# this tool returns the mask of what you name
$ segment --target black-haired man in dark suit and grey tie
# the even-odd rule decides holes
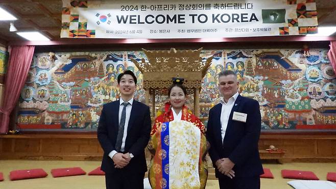
[[[103,106],[97,131],[104,150],[101,170],[106,174],[107,189],[142,189],[150,110],[133,99],[136,77],[131,70],[120,74],[117,81],[121,98]]]

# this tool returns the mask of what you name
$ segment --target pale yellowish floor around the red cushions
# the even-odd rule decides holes
[[[72,176],[53,178],[50,174],[54,168],[81,167],[87,173],[100,166],[99,161],[33,161],[33,160],[0,160],[0,172],[4,173],[5,180],[0,182],[1,189],[103,189],[104,176]],[[313,171],[320,180],[326,180],[327,172],[336,172],[335,163],[284,163],[263,164],[264,168],[271,169],[274,179],[261,179],[262,189],[292,188],[286,182],[292,179],[283,179],[282,169]],[[9,180],[9,172],[19,169],[44,169],[49,176],[39,179]],[[217,180],[208,180],[206,189],[219,188]]]

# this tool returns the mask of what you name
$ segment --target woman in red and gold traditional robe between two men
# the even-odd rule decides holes
[[[206,185],[205,129],[184,104],[187,94],[182,83],[182,78],[173,79],[165,112],[156,117],[151,131],[148,149],[152,154],[149,170],[152,188],[163,185],[167,188],[205,188]]]

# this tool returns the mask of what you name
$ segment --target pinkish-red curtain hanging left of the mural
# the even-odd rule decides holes
[[[35,46],[12,46],[5,79],[4,104],[0,108],[0,134],[8,132],[9,115],[25,85]]]

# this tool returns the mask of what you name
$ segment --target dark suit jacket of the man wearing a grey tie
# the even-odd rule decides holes
[[[108,154],[115,150],[119,129],[119,106],[119,100],[105,104],[99,120],[98,140],[104,150],[101,169],[105,173],[114,173],[117,170],[117,168],[114,168],[114,162]],[[124,170],[133,173],[145,173],[147,171],[145,147],[148,144],[150,133],[151,115],[149,107],[133,100],[124,153],[132,153],[134,157],[123,168]]]

